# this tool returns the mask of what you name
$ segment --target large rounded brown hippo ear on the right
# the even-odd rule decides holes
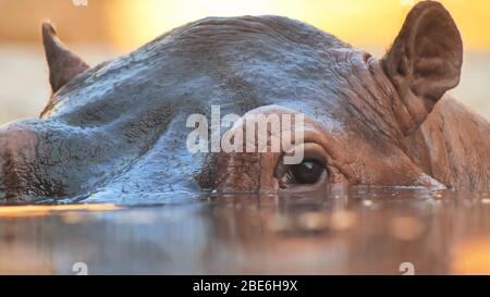
[[[382,63],[401,100],[396,109],[403,111],[395,112],[409,134],[460,83],[463,42],[450,13],[438,2],[415,5]]]

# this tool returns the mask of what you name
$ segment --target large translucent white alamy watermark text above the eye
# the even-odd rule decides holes
[[[281,108],[221,117],[220,107],[212,106],[210,122],[204,114],[187,117],[186,126],[194,131],[187,135],[186,146],[192,153],[278,152],[284,153],[284,164],[299,164],[304,158],[304,119],[302,113]]]

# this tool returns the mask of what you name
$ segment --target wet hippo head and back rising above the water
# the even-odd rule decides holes
[[[490,124],[448,94],[463,42],[438,2],[416,4],[381,59],[271,15],[207,17],[94,67],[49,23],[42,41],[52,95],[39,119],[0,129],[2,201],[490,189]],[[302,114],[302,161],[285,163],[285,148],[189,151],[188,117],[211,107]]]

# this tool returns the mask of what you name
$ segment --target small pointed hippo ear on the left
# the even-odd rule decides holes
[[[87,63],[66,49],[49,23],[42,24],[42,44],[49,65],[49,83],[51,84],[52,92],[56,92],[70,79],[89,69]]]

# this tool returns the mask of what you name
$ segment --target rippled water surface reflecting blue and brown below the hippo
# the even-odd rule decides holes
[[[490,274],[489,218],[488,193],[385,188],[2,207],[0,273]]]

